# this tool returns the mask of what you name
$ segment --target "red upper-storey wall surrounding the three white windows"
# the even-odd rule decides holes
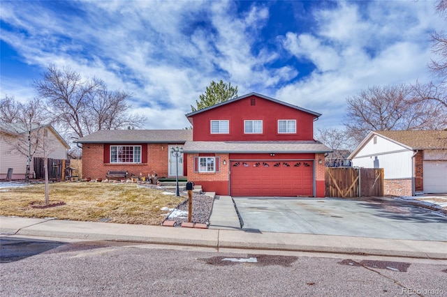
[[[194,141],[288,141],[314,139],[316,116],[256,95],[193,114]],[[212,134],[212,120],[228,120],[228,134]],[[244,134],[244,121],[262,120],[261,134]],[[279,120],[296,120],[296,133],[278,132]]]

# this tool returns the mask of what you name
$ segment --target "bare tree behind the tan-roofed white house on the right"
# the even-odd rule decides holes
[[[360,143],[371,130],[427,130],[443,128],[444,110],[432,100],[415,100],[404,84],[372,86],[346,99],[346,132]]]

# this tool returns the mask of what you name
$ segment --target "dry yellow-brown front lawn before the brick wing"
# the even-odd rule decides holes
[[[0,189],[0,215],[60,220],[109,221],[127,224],[160,224],[168,211],[186,197],[163,195],[163,190],[128,183],[52,183],[50,204],[65,205],[33,208],[33,201],[45,201],[45,185]],[[163,215],[164,214],[164,215]]]

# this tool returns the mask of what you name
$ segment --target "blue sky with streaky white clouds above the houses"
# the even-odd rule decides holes
[[[0,95],[49,63],[133,94],[147,129],[189,126],[212,80],[323,114],[368,86],[430,80],[434,1],[0,1]],[[445,27],[444,27],[445,29]]]

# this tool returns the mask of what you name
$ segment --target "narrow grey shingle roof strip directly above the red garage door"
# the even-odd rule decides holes
[[[321,142],[186,142],[185,153],[328,153]]]

